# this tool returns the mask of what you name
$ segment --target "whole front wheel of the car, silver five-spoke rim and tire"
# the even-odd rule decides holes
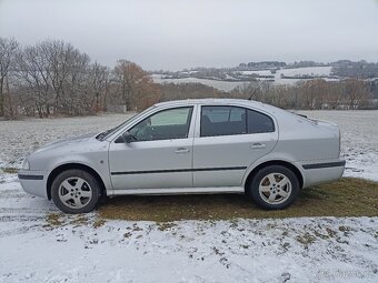
[[[51,184],[53,203],[66,213],[87,213],[96,208],[101,188],[90,173],[72,169],[60,173]]]

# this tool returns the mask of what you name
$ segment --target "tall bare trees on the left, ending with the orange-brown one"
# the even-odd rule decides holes
[[[0,117],[82,115],[108,105],[143,109],[159,88],[138,64],[119,60],[111,70],[61,40],[20,47],[0,38]]]

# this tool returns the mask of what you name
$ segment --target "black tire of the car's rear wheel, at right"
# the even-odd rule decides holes
[[[273,174],[276,180],[286,176],[290,183],[284,185],[284,188],[277,183],[273,186],[270,184],[268,178],[268,175],[271,176],[271,174]],[[262,184],[263,182],[268,182],[261,188],[267,188],[269,191],[260,192],[259,188],[261,182]],[[247,188],[247,194],[257,203],[257,205],[267,210],[281,210],[289,206],[297,199],[298,192],[299,181],[297,175],[290,169],[281,165],[270,165],[260,169]],[[267,200],[271,193],[273,193],[272,198],[277,198],[272,203]],[[281,196],[280,194],[282,193],[286,193],[287,196]]]

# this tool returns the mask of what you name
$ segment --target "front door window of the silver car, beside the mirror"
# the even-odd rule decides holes
[[[189,134],[192,107],[157,112],[129,130],[136,141],[186,139]]]

